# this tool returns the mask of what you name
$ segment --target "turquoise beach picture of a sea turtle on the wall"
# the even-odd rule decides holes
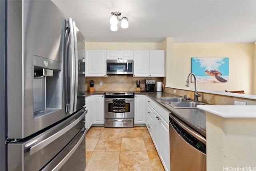
[[[198,83],[227,83],[229,58],[191,58],[191,72]]]

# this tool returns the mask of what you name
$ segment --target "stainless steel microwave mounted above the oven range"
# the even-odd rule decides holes
[[[109,75],[132,75],[133,60],[106,60],[106,70]]]

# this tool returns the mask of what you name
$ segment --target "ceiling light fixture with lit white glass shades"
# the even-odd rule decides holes
[[[111,12],[111,17],[110,17],[110,30],[112,31],[116,31],[117,30],[117,24],[118,21],[122,21],[121,22],[121,27],[122,28],[128,28],[129,24],[128,24],[128,18],[127,17],[123,17],[121,20],[118,18],[118,16],[121,15],[121,12]]]

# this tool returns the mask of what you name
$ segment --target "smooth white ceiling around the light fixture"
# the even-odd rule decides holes
[[[256,0],[52,0],[86,42],[256,42]],[[129,27],[110,30],[111,12]]]

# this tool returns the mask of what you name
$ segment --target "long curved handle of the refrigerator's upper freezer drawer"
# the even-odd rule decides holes
[[[85,117],[85,113],[83,113],[83,115],[81,115],[80,117],[78,117],[78,119],[76,119],[74,122],[70,123],[70,125],[64,127],[64,129],[58,131],[57,133],[53,134],[52,136],[44,139],[43,141],[40,141],[39,143],[37,143],[36,145],[33,145],[32,147],[30,147],[30,155],[33,155],[34,153],[36,153],[37,151],[39,151],[40,149],[46,147],[46,145],[52,143],[54,140],[56,140],[58,137],[62,136],[64,133],[66,133],[67,131],[69,131],[72,127],[74,127],[78,122],[80,122],[82,119],[84,119]]]

